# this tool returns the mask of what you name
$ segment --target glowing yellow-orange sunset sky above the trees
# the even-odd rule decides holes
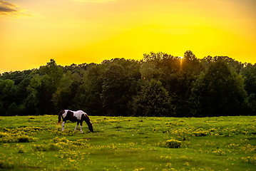
[[[256,1],[0,0],[0,73],[188,50],[256,63]]]

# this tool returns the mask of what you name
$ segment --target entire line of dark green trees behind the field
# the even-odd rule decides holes
[[[45,66],[0,76],[0,115],[204,117],[255,115],[256,64],[227,56],[144,54],[100,64]]]

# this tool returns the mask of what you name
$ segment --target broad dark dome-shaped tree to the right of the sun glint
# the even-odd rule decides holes
[[[240,115],[245,97],[242,76],[219,60],[200,75],[190,100],[194,116]]]

